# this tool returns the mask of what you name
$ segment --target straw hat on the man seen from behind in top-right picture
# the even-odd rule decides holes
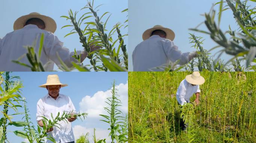
[[[146,40],[148,39],[150,36],[152,36],[152,32],[155,31],[155,30],[162,30],[166,33],[166,39],[170,39],[171,41],[173,41],[173,39],[175,38],[175,34],[174,32],[169,29],[169,28],[164,28],[163,26],[161,25],[155,25],[153,28],[150,28],[150,29],[147,29],[143,35],[142,35],[142,39],[143,40]]]

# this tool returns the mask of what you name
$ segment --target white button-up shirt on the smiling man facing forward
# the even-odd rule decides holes
[[[61,116],[63,112],[71,113],[72,110],[73,113],[76,113],[76,109],[68,96],[59,94],[59,96],[55,100],[49,94],[47,94],[43,98],[39,99],[39,101],[37,102],[36,121],[38,122],[42,120],[43,118],[41,116],[52,120],[51,113],[55,118],[58,115],[58,112],[60,112]],[[60,129],[58,127],[53,127],[54,130],[48,132],[47,134],[49,136],[52,136],[56,140],[56,142],[73,142],[75,139],[71,123],[69,121],[68,123],[66,121],[60,121],[58,123],[61,124],[61,126],[58,125]],[[52,142],[50,140],[47,140],[46,143]]]

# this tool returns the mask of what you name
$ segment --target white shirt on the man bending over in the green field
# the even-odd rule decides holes
[[[176,98],[179,104],[184,105],[190,102],[190,98],[194,93],[201,92],[199,85],[192,86],[186,79],[180,82],[179,88],[177,89]]]

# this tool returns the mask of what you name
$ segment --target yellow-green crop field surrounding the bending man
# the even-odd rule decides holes
[[[255,143],[256,73],[201,72],[200,103],[182,108],[189,123],[182,131],[176,91],[188,74],[192,72],[128,73],[129,142]]]

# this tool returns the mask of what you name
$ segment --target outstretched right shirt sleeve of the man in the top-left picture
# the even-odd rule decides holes
[[[73,64],[72,61],[78,62],[75,58],[72,56],[74,55],[74,52],[71,52],[68,50],[68,48],[63,47],[63,42],[61,42],[57,36],[54,34],[49,34],[45,38],[45,51],[48,58],[50,58],[54,63],[60,67],[61,63],[58,58],[58,55],[60,56],[61,60],[68,66],[72,67]],[[57,55],[58,53],[58,55]],[[80,54],[81,51],[77,51],[77,54]]]

